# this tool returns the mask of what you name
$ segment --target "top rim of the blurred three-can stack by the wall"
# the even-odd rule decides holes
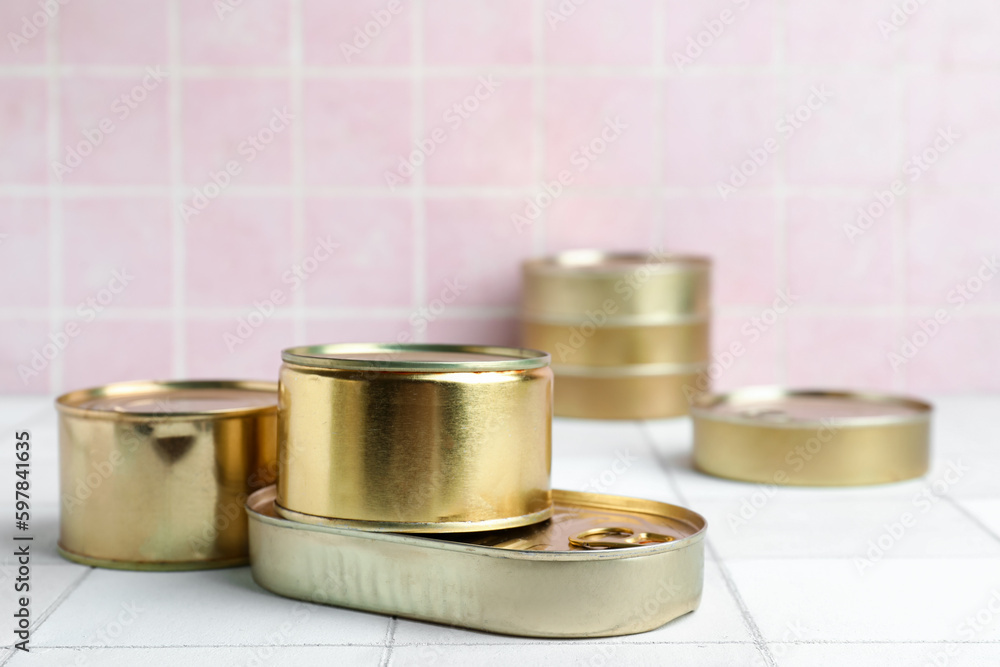
[[[651,271],[668,273],[674,271],[707,271],[712,260],[703,255],[643,253],[637,251],[606,251],[589,248],[564,250],[563,252],[529,259],[524,262],[526,271],[534,273],[563,274],[621,274],[634,271],[635,267],[614,266],[613,261],[636,260],[636,266],[645,265]]]

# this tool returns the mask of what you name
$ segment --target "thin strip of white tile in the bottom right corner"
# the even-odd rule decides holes
[[[778,667],[983,667],[1000,664],[1000,644],[772,644]]]

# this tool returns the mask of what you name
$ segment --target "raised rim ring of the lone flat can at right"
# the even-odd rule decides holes
[[[771,422],[743,417],[740,415],[719,414],[715,408],[722,405],[732,405],[742,400],[778,400],[782,398],[845,398],[864,401],[872,404],[906,407],[913,410],[909,415],[867,415],[861,417],[831,417],[830,419],[797,419],[791,422]],[[814,428],[825,425],[833,420],[838,427],[878,426],[890,424],[914,423],[927,421],[934,407],[917,398],[887,394],[881,392],[851,391],[838,389],[789,389],[780,386],[743,387],[723,394],[701,394],[691,402],[691,415],[715,422],[727,422],[759,428]]]

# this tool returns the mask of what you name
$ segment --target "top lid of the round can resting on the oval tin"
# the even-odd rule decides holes
[[[334,343],[282,350],[283,361],[310,368],[409,372],[518,371],[549,365],[547,352],[484,345]]]

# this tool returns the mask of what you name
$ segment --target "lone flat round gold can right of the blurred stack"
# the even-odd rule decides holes
[[[930,404],[885,394],[752,387],[692,406],[694,463],[710,475],[795,486],[920,477]]]

